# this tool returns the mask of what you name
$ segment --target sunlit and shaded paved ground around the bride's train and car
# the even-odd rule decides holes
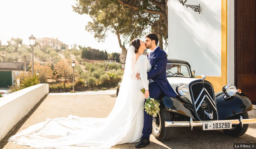
[[[70,114],[80,117],[106,117],[114,106],[115,95],[54,95],[49,94],[20,122],[8,136],[16,134],[30,125],[45,121],[47,118],[67,117]],[[256,142],[256,124],[249,125],[245,135],[230,137],[222,130],[203,131],[202,128],[173,128],[172,138],[168,141],[158,141],[153,135],[150,145],[146,148],[233,148],[233,143]],[[0,148],[31,149],[32,147],[13,144],[4,140]],[[116,145],[112,148],[135,148],[135,143]]]

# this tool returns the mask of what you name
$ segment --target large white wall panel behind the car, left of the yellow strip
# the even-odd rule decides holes
[[[221,76],[221,0],[189,0],[201,12],[168,1],[168,58],[188,61],[196,75]]]

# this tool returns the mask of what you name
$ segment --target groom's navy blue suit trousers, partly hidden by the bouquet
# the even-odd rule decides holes
[[[149,91],[150,98],[154,98],[158,100],[162,93],[162,90],[157,85],[157,83],[156,82],[149,83],[148,88],[149,88],[148,91]],[[145,99],[145,102],[146,100],[147,99]],[[143,134],[142,138],[149,140],[149,137],[152,133],[152,122],[153,122],[153,116],[147,114],[147,112],[144,110],[144,126],[142,130],[142,134]]]

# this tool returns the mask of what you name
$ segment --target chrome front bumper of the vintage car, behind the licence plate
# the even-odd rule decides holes
[[[240,119],[230,119],[230,120],[219,120],[219,121],[193,121],[190,118],[190,121],[180,121],[180,122],[165,122],[165,127],[190,127],[193,130],[193,127],[203,126],[203,122],[232,122],[232,125],[238,125],[243,128],[243,124],[256,124],[256,118],[243,119],[240,116]]]

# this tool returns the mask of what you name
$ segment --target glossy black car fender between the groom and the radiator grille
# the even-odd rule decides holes
[[[172,98],[165,96],[162,98],[160,106],[166,111],[179,113],[196,119],[193,106],[191,102],[185,97],[177,96]]]

